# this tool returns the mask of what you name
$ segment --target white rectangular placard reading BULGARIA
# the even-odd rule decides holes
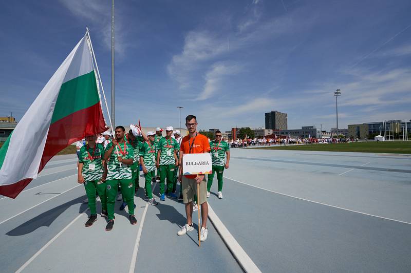
[[[184,154],[183,175],[211,174],[211,154]]]

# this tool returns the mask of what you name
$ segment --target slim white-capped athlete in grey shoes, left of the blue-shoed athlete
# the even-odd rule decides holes
[[[154,145],[154,135],[154,132],[148,132],[148,140],[145,141],[140,148],[140,164],[145,178],[145,195],[148,198],[148,203],[151,205],[157,205],[156,200],[153,198],[153,191],[151,188],[152,179],[155,176],[156,169],[156,146]]]

